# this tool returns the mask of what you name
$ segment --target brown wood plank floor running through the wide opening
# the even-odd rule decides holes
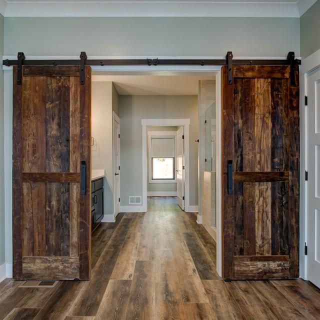
[[[224,282],[194,213],[172,197],[151,197],[148,208],[94,231],[91,281],[2,281],[0,320],[320,319],[320,290],[309,282]]]

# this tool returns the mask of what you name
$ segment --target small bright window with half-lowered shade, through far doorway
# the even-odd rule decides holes
[[[149,183],[175,182],[175,132],[157,132],[149,134]]]

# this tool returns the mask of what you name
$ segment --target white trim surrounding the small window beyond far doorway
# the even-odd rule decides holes
[[[147,131],[148,140],[147,140],[147,165],[148,165],[148,183],[176,183],[176,174],[175,174],[175,161],[176,161],[176,131]],[[151,161],[151,137],[157,138],[168,138],[172,137],[174,139],[174,159],[173,159],[173,175],[174,179],[152,179],[152,161]]]

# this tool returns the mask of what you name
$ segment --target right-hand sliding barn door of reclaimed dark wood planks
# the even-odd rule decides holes
[[[298,66],[222,68],[223,277],[298,276]]]

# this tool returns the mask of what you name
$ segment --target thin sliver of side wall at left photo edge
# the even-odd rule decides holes
[[[3,55],[3,16],[0,14],[0,59]],[[5,261],[4,242],[4,101],[3,72],[0,72],[0,265]]]

